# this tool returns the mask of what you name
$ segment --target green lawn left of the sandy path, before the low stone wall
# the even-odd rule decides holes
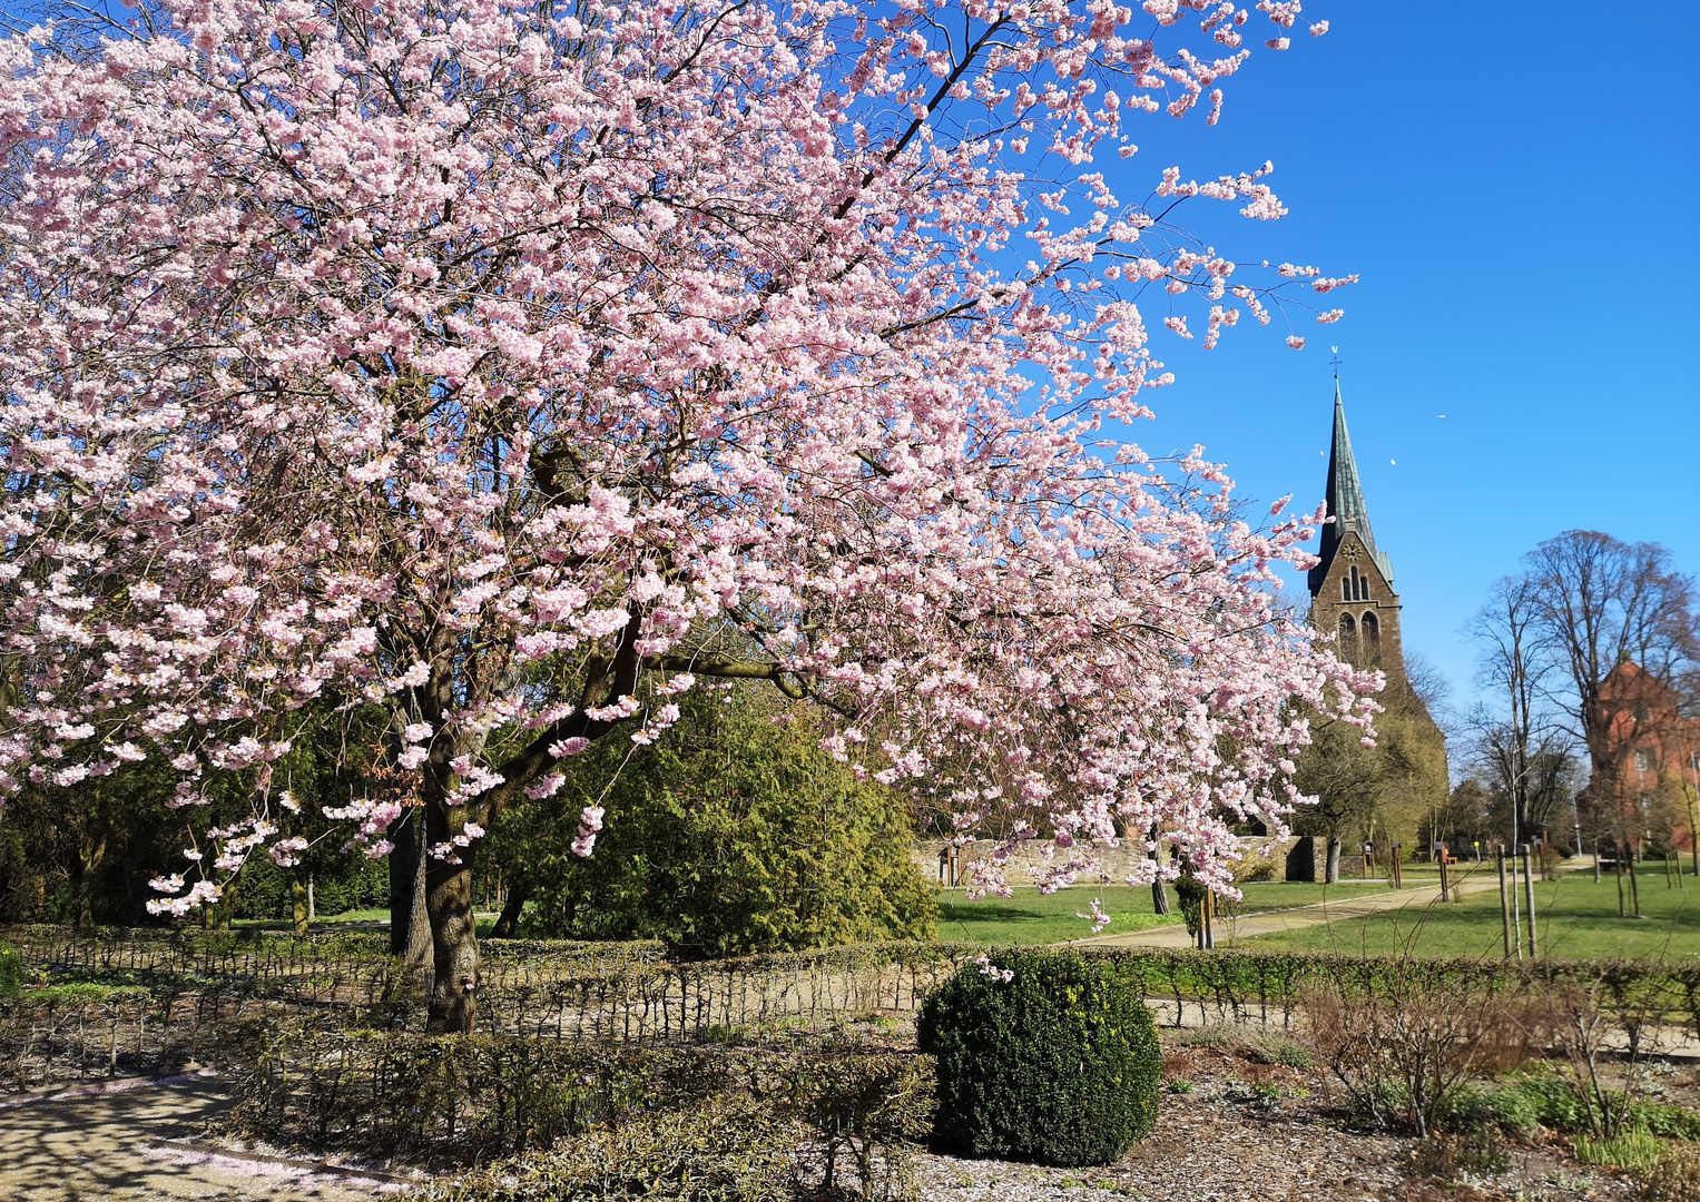
[[[1236,903],[1239,913],[1290,910],[1318,901],[1358,898],[1367,893],[1386,893],[1387,884],[1377,881],[1348,881],[1333,886],[1287,884],[1265,881],[1244,886],[1244,901]],[[1044,896],[1034,886],[1020,886],[1013,898],[981,898],[966,901],[960,889],[952,889],[938,899],[938,938],[969,944],[1061,944],[1091,935],[1091,925],[1076,918],[1088,913],[1093,898],[1103,899],[1103,908],[1114,920],[1105,935],[1124,935],[1149,927],[1166,927],[1180,921],[1180,908],[1173,916],[1151,913],[1151,889],[1117,886],[1074,886]],[[1175,894],[1170,891],[1170,904]]]

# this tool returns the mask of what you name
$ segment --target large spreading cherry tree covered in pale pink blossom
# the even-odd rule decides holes
[[[1352,277],[1171,224],[1278,219],[1268,163],[1151,207],[1095,163],[1202,129],[1243,14],[1018,9],[162,0],[0,43],[0,787],[156,753],[194,816],[252,782],[223,867],[160,882],[187,913],[291,855],[309,707],[388,711],[437,978],[476,979],[457,850],[765,680],[984,838],[979,887],[1156,831],[1229,889],[1231,826],[1300,801],[1294,702],[1367,728],[1375,680],[1275,595],[1319,515],[1255,529],[1219,464],[1112,435],[1173,379],[1151,323],[1216,345]],[[393,804],[326,813],[389,847]]]

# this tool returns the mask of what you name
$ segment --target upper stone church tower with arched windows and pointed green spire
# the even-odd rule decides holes
[[[1328,515],[1321,563],[1311,568],[1311,626],[1340,636],[1341,658],[1382,668],[1389,682],[1404,677],[1399,643],[1399,593],[1392,561],[1375,546],[1358,464],[1346,434],[1346,406],[1334,376],[1334,440],[1328,452]]]

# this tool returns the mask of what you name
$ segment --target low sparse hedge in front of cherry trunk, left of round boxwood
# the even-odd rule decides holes
[[[864,1173],[869,1141],[925,1134],[932,1091],[932,1061],[913,1052],[632,1047],[287,1023],[257,1042],[228,1122],[321,1153],[466,1165],[741,1097],[819,1132],[831,1176],[840,1163]]]

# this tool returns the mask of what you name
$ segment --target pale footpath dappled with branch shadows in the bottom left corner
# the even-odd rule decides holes
[[[0,1098],[3,1202],[374,1202],[398,1187],[311,1166],[162,1148],[231,1105],[207,1078],[112,1081]]]

